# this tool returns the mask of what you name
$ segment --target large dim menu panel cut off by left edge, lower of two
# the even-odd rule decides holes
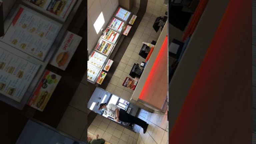
[[[0,93],[20,102],[39,67],[0,48]]]

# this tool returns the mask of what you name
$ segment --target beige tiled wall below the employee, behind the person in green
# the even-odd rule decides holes
[[[92,139],[96,138],[96,134],[99,134],[99,138],[105,139],[105,144],[136,144],[139,138],[139,133],[124,128],[101,115],[97,115],[87,129],[87,135]],[[82,140],[86,141],[86,137],[82,137]]]

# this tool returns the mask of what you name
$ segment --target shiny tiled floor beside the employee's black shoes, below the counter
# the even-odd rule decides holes
[[[146,121],[149,126],[145,134],[142,128],[135,126],[140,133],[137,144],[167,144],[167,113],[148,113],[141,109],[138,117]]]

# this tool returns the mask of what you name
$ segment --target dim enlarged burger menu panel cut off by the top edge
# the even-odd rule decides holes
[[[27,0],[57,16],[66,18],[75,0]]]

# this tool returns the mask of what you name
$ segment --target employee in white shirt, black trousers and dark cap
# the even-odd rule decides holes
[[[120,109],[114,104],[108,104],[107,103],[102,103],[99,106],[99,110],[103,110],[106,112],[106,114],[112,118],[115,119],[116,122],[123,121],[127,123],[134,123],[136,125],[139,125],[140,127],[143,128],[143,133],[146,132],[148,128],[147,122],[141,120],[140,118],[137,118],[135,116],[132,116],[128,114],[125,110]]]

